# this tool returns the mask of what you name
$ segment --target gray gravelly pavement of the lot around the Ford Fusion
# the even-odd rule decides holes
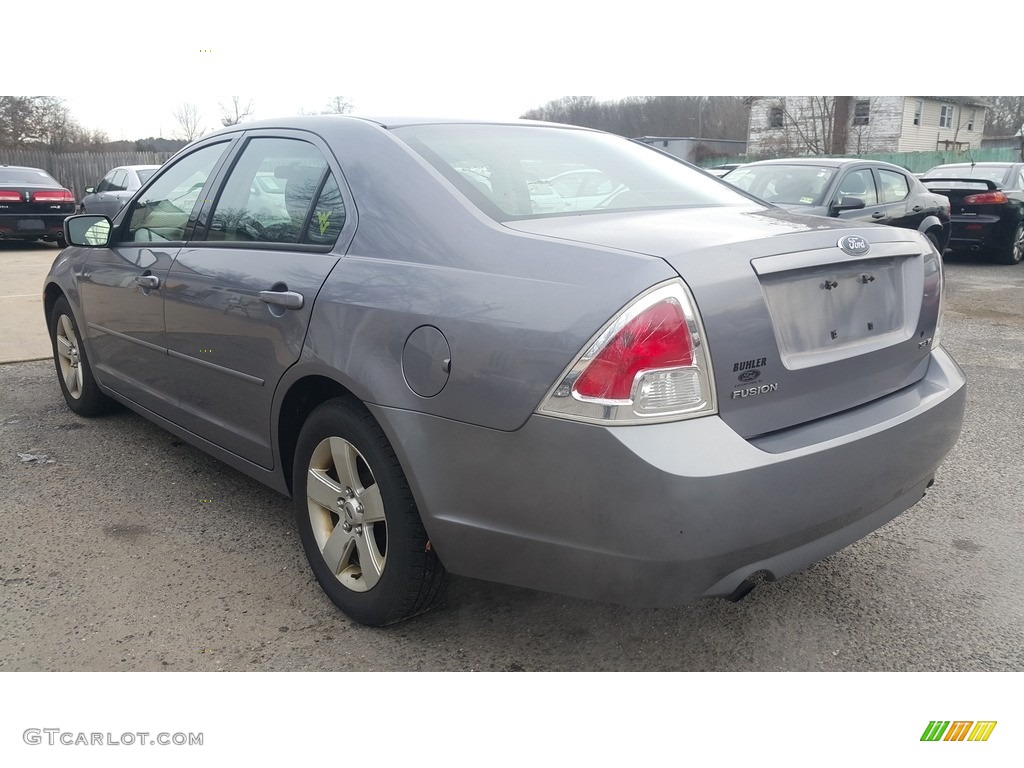
[[[55,253],[27,257],[40,280]],[[1024,266],[947,259],[943,343],[969,377],[957,447],[824,562],[659,610],[456,579],[386,630],[324,596],[287,500],[129,412],[75,416],[48,359],[0,365],[0,671],[1024,671]]]

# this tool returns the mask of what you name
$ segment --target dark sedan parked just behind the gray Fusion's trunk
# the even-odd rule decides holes
[[[769,203],[815,216],[890,224],[928,236],[942,253],[949,201],[891,163],[842,158],[765,160],[723,177]]]

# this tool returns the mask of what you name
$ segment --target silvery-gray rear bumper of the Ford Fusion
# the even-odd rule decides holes
[[[925,379],[755,442],[721,419],[500,432],[376,409],[455,573],[627,605],[728,595],[861,539],[923,496],[959,434],[965,380]]]

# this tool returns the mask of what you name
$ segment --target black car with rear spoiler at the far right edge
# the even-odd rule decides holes
[[[1001,264],[1024,259],[1024,163],[937,165],[921,180],[952,206],[949,248]]]

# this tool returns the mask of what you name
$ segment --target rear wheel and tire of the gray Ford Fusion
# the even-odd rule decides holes
[[[302,548],[346,615],[382,627],[440,601],[447,571],[391,444],[361,403],[337,398],[309,415],[292,476]]]

